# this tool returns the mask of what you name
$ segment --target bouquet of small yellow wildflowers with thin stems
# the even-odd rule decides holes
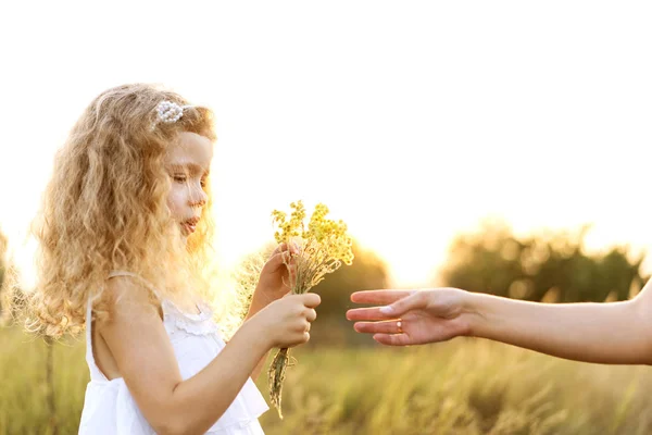
[[[304,294],[324,279],[327,273],[335,272],[342,263],[353,262],[352,239],[347,234],[347,224],[326,219],[328,208],[323,203],[315,206],[308,226],[304,223],[303,202],[292,202],[290,208],[292,212],[289,219],[283,211],[272,212],[276,226],[274,237],[279,244],[294,244],[299,248],[299,252],[292,257],[296,276],[291,293]],[[283,348],[274,357],[268,371],[269,399],[281,419],[280,394],[288,362],[289,349]]]

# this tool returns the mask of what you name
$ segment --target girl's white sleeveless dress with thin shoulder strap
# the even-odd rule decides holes
[[[113,276],[138,278],[158,295],[156,290],[138,275],[116,271],[111,273],[110,277]],[[200,307],[200,314],[185,313],[165,299],[162,300],[161,307],[163,325],[172,341],[185,381],[206,366],[224,348],[225,343],[212,320],[212,312],[208,306]],[[91,310],[92,301],[89,300],[86,314],[86,362],[90,370],[90,382],[86,387],[79,434],[155,434],[138,409],[124,380],[118,377],[109,381],[98,369],[92,356]],[[249,378],[226,412],[206,433],[263,434],[258,418],[268,409],[255,384]]]

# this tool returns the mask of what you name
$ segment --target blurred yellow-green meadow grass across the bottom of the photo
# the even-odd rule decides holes
[[[75,434],[88,369],[84,344],[54,345],[50,420],[47,346],[0,330],[0,434]],[[652,369],[564,361],[456,339],[390,349],[304,347],[288,369],[275,434],[649,434]],[[265,396],[265,376],[258,380]]]

